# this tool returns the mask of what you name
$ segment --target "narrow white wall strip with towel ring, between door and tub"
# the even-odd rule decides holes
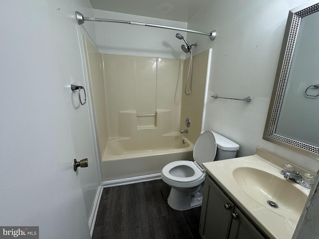
[[[87,168],[78,169],[76,174],[81,182],[87,221],[92,232],[95,222],[93,209],[101,182],[94,145],[94,129],[90,121],[89,89],[85,83],[85,72],[83,70],[85,62],[82,62],[84,55],[81,54],[83,52],[82,35],[78,33],[79,25],[74,19],[75,9],[82,9],[80,6],[73,5],[80,4],[79,0],[73,1],[74,3],[65,0],[50,0],[49,11],[52,23],[51,34],[56,48],[54,55],[59,73],[57,78],[64,84],[64,105],[67,108],[70,122],[75,158],[78,161],[87,158],[89,162]],[[88,27],[94,28],[94,25],[91,24]],[[83,26],[81,26],[81,29],[83,29]],[[88,34],[89,31],[84,30],[84,32]],[[79,91],[72,92],[70,84],[84,87],[80,90],[82,104],[85,103],[84,90],[86,90],[87,100],[84,105],[80,104]]]

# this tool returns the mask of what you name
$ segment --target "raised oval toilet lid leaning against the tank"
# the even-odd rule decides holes
[[[212,131],[204,131],[201,135],[199,135],[193,151],[194,161],[198,163],[198,165],[202,165],[202,163],[214,161],[216,156],[216,140]]]

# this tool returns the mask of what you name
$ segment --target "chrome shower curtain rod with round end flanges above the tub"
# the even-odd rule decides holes
[[[85,16],[83,16],[82,13],[80,13],[78,11],[75,11],[75,18],[76,18],[76,21],[78,22],[79,25],[83,24],[84,21],[106,21],[106,22],[127,23],[127,24],[139,25],[139,26],[151,26],[151,27],[165,28],[165,29],[171,29],[171,30],[177,30],[177,31],[191,32],[191,33],[195,33],[195,34],[206,35],[212,41],[217,36],[216,30],[213,30],[213,31],[207,33],[207,32],[202,32],[202,31],[194,31],[194,30],[189,30],[189,29],[185,29],[185,28],[157,25],[157,24],[151,24],[151,23],[145,23],[145,22],[123,21],[123,20],[104,19],[104,18],[96,18],[96,17],[85,17]]]

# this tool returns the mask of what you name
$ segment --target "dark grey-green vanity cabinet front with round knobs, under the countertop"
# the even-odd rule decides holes
[[[207,174],[199,233],[202,239],[267,239]]]

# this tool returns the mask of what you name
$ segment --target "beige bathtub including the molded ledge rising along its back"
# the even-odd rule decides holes
[[[194,145],[179,132],[171,132],[170,111],[147,116],[124,111],[118,119],[119,136],[109,137],[100,153],[107,181],[159,174],[167,163],[192,159]]]

